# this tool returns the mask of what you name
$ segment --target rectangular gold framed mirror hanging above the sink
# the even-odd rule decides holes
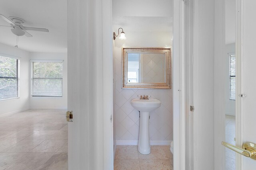
[[[171,88],[171,49],[122,48],[122,88]]]

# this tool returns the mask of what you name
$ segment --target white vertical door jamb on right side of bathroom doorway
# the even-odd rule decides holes
[[[174,0],[173,26],[173,139],[174,170],[186,169],[184,0]],[[175,63],[175,64],[174,64]]]

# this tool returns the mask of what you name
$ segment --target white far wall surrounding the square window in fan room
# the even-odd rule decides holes
[[[31,60],[63,60],[63,96],[39,97],[30,95],[31,109],[66,109],[67,108],[67,53],[30,53]],[[29,66],[31,68],[31,66]],[[31,86],[31,72],[29,72]],[[31,94],[31,92],[29,92]]]

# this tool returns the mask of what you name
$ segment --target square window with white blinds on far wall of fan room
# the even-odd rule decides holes
[[[62,61],[32,61],[32,96],[62,97]]]

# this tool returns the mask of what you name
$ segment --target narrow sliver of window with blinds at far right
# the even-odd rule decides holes
[[[229,99],[236,100],[236,55],[229,56]]]

